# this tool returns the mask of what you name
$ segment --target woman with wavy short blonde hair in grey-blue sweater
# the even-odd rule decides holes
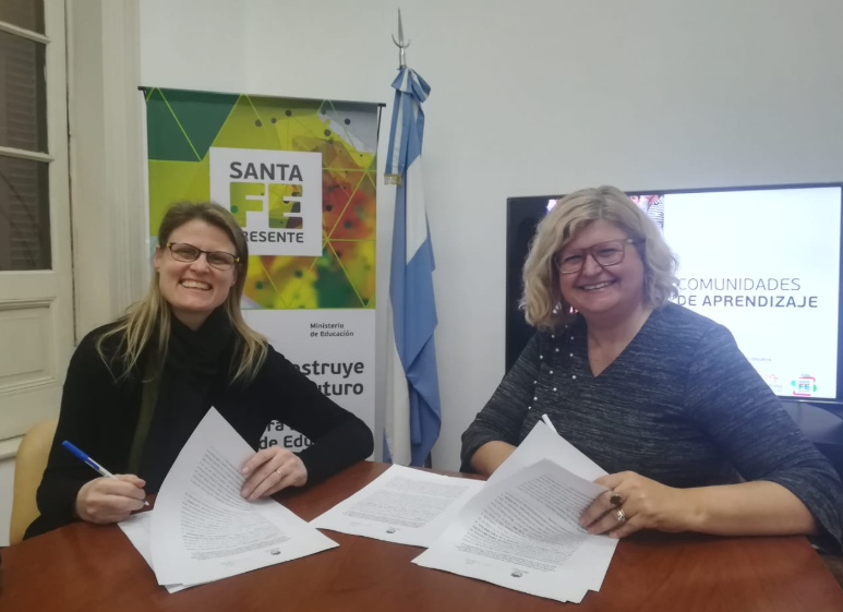
[[[561,200],[523,268],[537,334],[462,434],[462,469],[492,473],[546,413],[610,472],[580,519],[592,533],[819,533],[839,547],[840,478],[728,329],[670,302],[675,269],[622,191]]]

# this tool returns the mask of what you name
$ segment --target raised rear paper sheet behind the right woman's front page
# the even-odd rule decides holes
[[[539,421],[523,439],[523,442],[518,445],[515,453],[501,464],[486,482],[489,484],[499,482],[542,459],[550,459],[585,480],[594,480],[606,475],[603,468],[589,459],[570,442]]]

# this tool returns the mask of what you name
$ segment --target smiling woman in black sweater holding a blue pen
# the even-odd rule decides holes
[[[278,446],[242,466],[241,495],[255,500],[317,482],[372,453],[372,432],[276,352],[243,321],[249,245],[214,203],[183,202],[164,216],[146,296],[94,329],[71,359],[56,439],[38,489],[40,516],[26,537],[75,519],[116,523],[157,492],[213,406],[257,449],[273,420],[313,445]],[[61,447],[68,440],[112,472]]]

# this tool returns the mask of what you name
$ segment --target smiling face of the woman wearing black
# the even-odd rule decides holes
[[[177,227],[167,241],[186,242],[203,251],[237,254],[225,231],[200,219]],[[172,308],[172,314],[192,329],[198,329],[208,315],[225,303],[237,280],[236,265],[229,269],[212,267],[205,254],[195,262],[180,262],[173,259],[169,249],[157,247],[154,263],[161,296]]]

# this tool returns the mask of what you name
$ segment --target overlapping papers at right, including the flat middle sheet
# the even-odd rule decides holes
[[[605,473],[540,421],[486,482],[393,466],[311,525],[425,547],[417,565],[579,603],[617,547],[579,526]]]

